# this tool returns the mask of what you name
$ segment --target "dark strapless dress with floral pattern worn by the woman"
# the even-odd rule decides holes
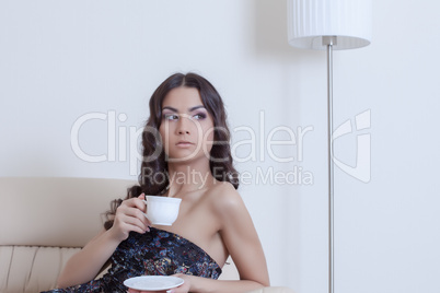
[[[101,279],[46,293],[127,292],[123,282],[138,276],[186,273],[218,279],[221,273],[219,265],[204,249],[177,234],[154,227],[144,234],[131,232],[116,248],[111,263]]]

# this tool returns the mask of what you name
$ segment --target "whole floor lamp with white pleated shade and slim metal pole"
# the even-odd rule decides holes
[[[333,50],[371,42],[371,0],[288,0],[289,44],[327,51],[328,292],[334,293]]]

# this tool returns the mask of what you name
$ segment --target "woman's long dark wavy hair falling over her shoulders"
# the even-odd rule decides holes
[[[166,191],[170,185],[167,162],[159,128],[162,122],[162,103],[171,90],[180,86],[197,89],[201,103],[213,119],[213,145],[209,160],[212,176],[217,180],[231,183],[235,189],[239,188],[239,173],[232,162],[227,113],[220,94],[208,80],[196,73],[175,73],[162,82],[150,98],[150,117],[142,132],[143,160],[138,179],[139,185],[130,187],[125,199],[139,197],[142,192],[160,196]],[[108,230],[113,225],[113,221],[108,216],[115,215],[116,209],[121,202],[121,199],[112,201],[112,208],[106,213],[105,228]]]

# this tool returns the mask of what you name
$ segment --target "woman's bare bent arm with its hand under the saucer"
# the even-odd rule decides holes
[[[240,273],[240,280],[212,280],[181,276],[186,285],[172,292],[247,292],[268,286],[266,258],[251,215],[239,192],[230,185],[212,195],[220,234]],[[185,288],[186,286],[186,288]]]

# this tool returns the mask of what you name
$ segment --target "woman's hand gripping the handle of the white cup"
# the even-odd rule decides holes
[[[116,209],[113,226],[109,228],[114,238],[123,242],[128,238],[131,231],[137,233],[150,231],[151,223],[143,215],[147,208],[144,198],[146,196],[142,194],[138,198],[126,199]]]

